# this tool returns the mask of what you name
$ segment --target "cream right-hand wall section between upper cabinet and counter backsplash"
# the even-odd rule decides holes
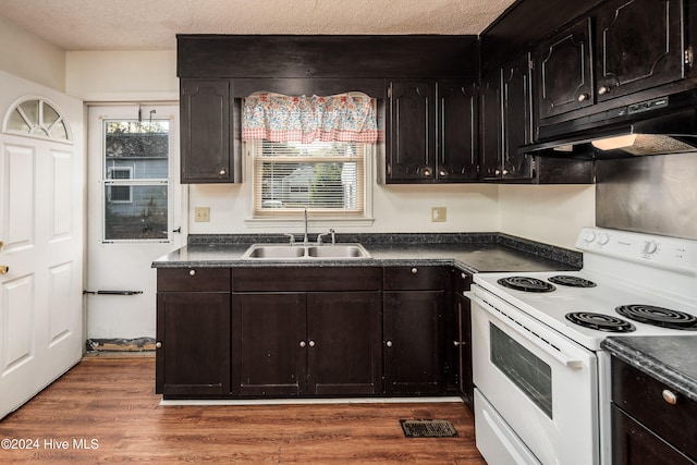
[[[595,224],[595,185],[499,186],[501,232],[574,249],[580,228]]]

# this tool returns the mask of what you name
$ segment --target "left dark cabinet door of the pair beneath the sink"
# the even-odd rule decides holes
[[[232,296],[235,395],[301,395],[306,389],[305,293]]]

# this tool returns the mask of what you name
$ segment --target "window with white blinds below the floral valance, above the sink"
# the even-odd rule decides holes
[[[254,217],[365,215],[365,166],[374,144],[247,140],[254,164]]]

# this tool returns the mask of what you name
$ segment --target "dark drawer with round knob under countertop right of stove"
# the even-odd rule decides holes
[[[675,404],[663,399],[664,390],[676,394]],[[675,449],[697,460],[697,402],[614,357],[612,401]]]

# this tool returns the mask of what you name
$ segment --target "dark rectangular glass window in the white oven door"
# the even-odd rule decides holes
[[[551,419],[551,367],[493,323],[489,326],[491,363]]]

